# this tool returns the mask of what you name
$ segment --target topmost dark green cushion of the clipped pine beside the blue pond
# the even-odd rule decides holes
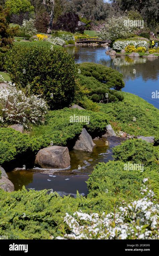
[[[112,68],[90,62],[84,62],[77,66],[83,76],[94,77],[99,82],[104,83],[108,88],[121,90],[124,87],[122,74]]]

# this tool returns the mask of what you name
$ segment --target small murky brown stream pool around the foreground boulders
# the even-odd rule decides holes
[[[105,141],[108,140],[108,146]],[[93,167],[99,162],[112,160],[112,148],[119,145],[122,138],[110,137],[94,140],[96,146],[93,152],[71,150],[71,168],[61,171],[46,169],[30,169],[8,172],[8,177],[13,182],[15,190],[19,190],[24,185],[27,189],[53,189],[53,191],[64,191],[76,194],[85,193],[87,195],[86,181],[91,174]]]

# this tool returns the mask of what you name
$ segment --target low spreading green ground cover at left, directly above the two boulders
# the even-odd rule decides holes
[[[98,107],[98,106],[97,106]],[[72,123],[71,116],[89,116],[90,123]],[[33,126],[29,134],[21,134],[11,128],[0,128],[0,165],[9,162],[20,153],[30,151],[32,156],[38,150],[53,145],[70,146],[71,141],[85,127],[90,134],[105,131],[107,116],[101,112],[64,108],[50,111],[46,116],[46,124]]]

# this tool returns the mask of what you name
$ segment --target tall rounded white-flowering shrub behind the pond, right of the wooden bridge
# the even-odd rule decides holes
[[[118,38],[128,38],[133,35],[134,27],[125,27],[124,21],[127,17],[112,16],[109,18],[99,32],[99,37],[103,40],[116,40]]]

